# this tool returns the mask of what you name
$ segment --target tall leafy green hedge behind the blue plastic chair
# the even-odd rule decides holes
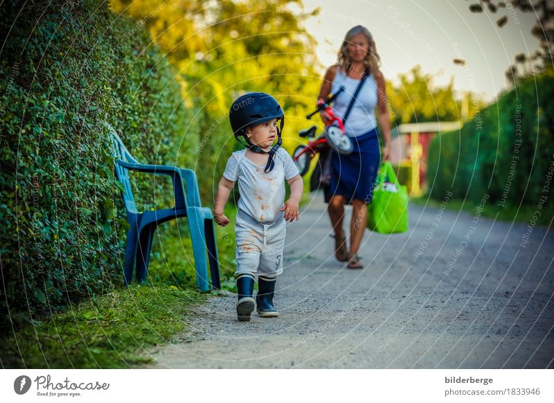
[[[28,321],[121,282],[126,220],[102,123],[147,163],[193,165],[199,136],[175,71],[104,1],[8,1],[0,26],[0,303]],[[136,182],[146,208],[170,203],[164,185]]]

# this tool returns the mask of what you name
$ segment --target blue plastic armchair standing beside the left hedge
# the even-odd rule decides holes
[[[125,248],[125,285],[132,282],[133,269],[136,263],[136,280],[141,283],[148,274],[148,260],[152,239],[156,227],[166,221],[179,217],[188,217],[190,238],[193,242],[195,258],[196,283],[202,292],[209,291],[206,248],[210,264],[212,287],[220,289],[220,268],[217,259],[213,215],[209,208],[202,207],[198,183],[193,170],[179,169],[166,165],[147,165],[139,163],[127,150],[116,131],[107,124],[111,139],[114,142],[115,168],[118,180],[123,184],[123,202],[127,210],[127,247]],[[163,174],[171,177],[175,192],[175,207],[140,213],[136,209],[129,170],[151,174]],[[186,190],[185,186],[186,185]]]

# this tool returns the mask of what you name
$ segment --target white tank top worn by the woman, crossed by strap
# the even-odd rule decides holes
[[[337,99],[332,103],[334,114],[342,118],[346,113],[346,108],[350,105],[350,100],[356,92],[359,80],[350,78],[345,72],[337,68],[337,74],[334,76],[334,80],[331,85],[331,93],[339,91],[340,87],[344,87]],[[370,130],[377,127],[377,120],[375,119],[375,107],[377,106],[377,82],[373,74],[370,74],[364,86],[361,87],[357,100],[352,105],[352,110],[344,129],[346,134],[351,137],[361,136],[366,134]]]

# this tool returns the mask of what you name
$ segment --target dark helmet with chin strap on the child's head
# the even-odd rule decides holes
[[[264,151],[257,145],[250,143],[247,137],[247,129],[271,119],[280,120],[280,125],[277,129],[278,141],[276,145],[271,147],[271,150]],[[245,93],[243,96],[237,98],[231,105],[231,109],[229,110],[229,121],[231,122],[233,134],[239,143],[244,145],[244,147],[248,147],[253,152],[269,154],[265,172],[271,171],[274,167],[273,156],[280,145],[283,144],[281,132],[283,132],[283,127],[285,126],[285,113],[283,109],[281,109],[279,102],[270,96],[269,93]],[[244,138],[246,144],[240,141],[240,137]]]

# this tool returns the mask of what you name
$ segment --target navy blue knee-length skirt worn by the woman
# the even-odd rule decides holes
[[[342,195],[350,204],[352,199],[369,204],[381,163],[377,128],[357,137],[350,137],[354,150],[348,155],[332,153],[330,195]]]

